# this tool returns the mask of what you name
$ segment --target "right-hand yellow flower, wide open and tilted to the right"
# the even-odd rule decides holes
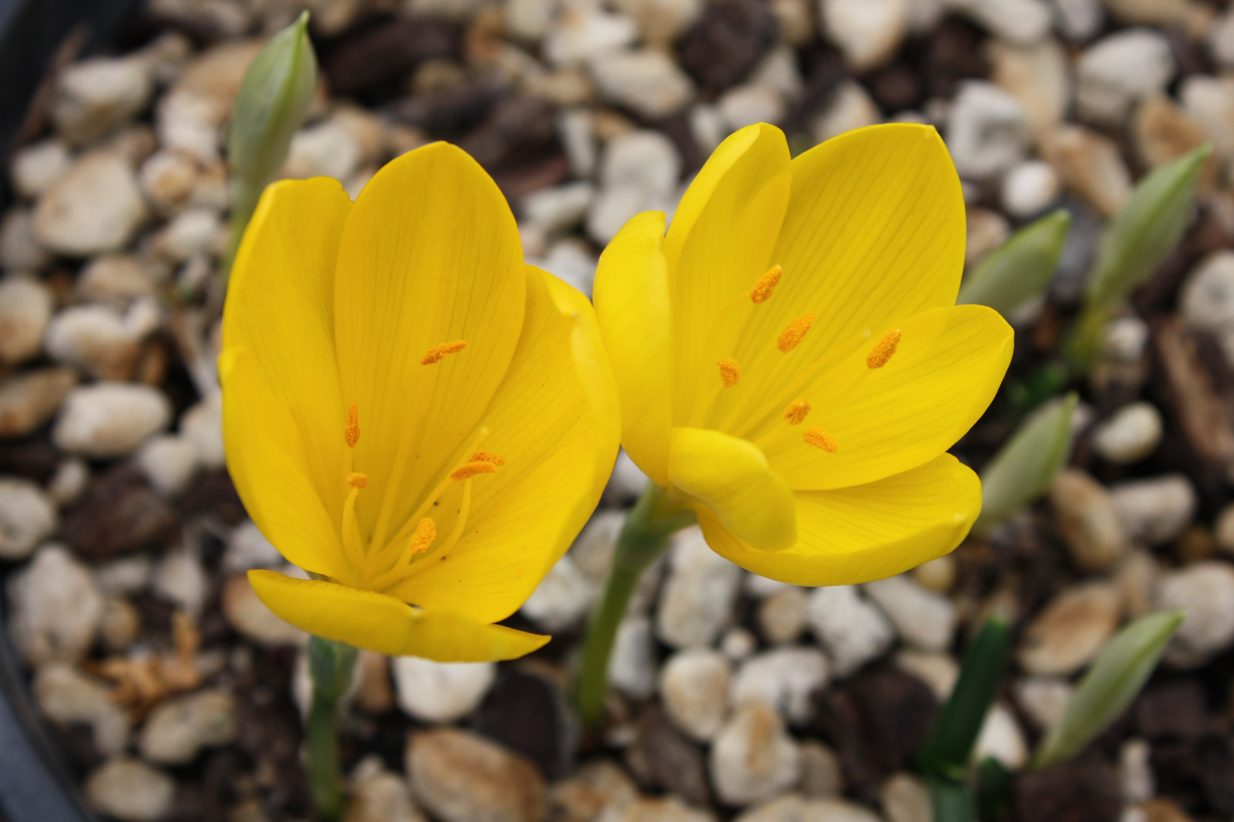
[[[731,136],[673,217],[638,214],[595,302],[631,458],[708,545],[802,585],[953,550],[981,509],[945,454],[1011,360],[997,312],[955,306],[960,181],[933,128],[874,126],[790,160]]]

